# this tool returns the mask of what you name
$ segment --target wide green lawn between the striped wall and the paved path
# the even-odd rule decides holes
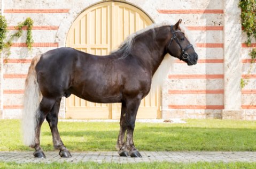
[[[185,124],[136,123],[141,151],[256,151],[256,122],[185,120]],[[60,137],[72,151],[115,151],[119,123],[59,122]],[[41,131],[44,151],[53,150],[48,123]],[[22,144],[20,121],[0,120],[0,151],[33,151]]]

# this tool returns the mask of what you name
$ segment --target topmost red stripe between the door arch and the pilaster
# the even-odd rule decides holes
[[[157,10],[159,13],[163,14],[190,14],[190,13],[224,13],[223,10]]]

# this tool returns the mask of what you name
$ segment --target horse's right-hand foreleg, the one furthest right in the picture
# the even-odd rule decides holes
[[[127,100],[127,113],[126,113],[126,123],[127,123],[127,136],[126,136],[126,149],[129,151],[129,155],[131,157],[141,157],[141,154],[134,146],[133,141],[133,132],[135,128],[135,120],[138,111],[139,104],[141,103],[141,99],[135,98],[131,100]]]

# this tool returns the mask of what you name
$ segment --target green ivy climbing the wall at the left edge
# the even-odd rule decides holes
[[[7,33],[7,22],[4,16],[0,15],[0,52],[3,51],[3,49],[6,50],[6,56],[5,59],[8,58],[11,55],[10,47],[13,44],[13,40],[15,38],[20,38],[22,35],[22,28],[27,28],[27,39],[26,44],[28,46],[28,49],[32,49],[32,44],[34,43],[32,38],[32,28],[33,28],[33,20],[31,18],[27,18],[24,22],[18,23],[18,26],[15,28],[18,29],[17,32],[12,34],[10,38],[6,39],[6,33]],[[6,42],[5,42],[6,41]]]

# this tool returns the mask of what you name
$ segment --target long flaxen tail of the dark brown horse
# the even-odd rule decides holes
[[[35,130],[38,119],[38,107],[42,100],[42,94],[36,78],[36,64],[41,55],[33,58],[28,70],[25,83],[24,108],[22,111],[22,130],[24,143],[27,146],[33,146],[35,143]]]

